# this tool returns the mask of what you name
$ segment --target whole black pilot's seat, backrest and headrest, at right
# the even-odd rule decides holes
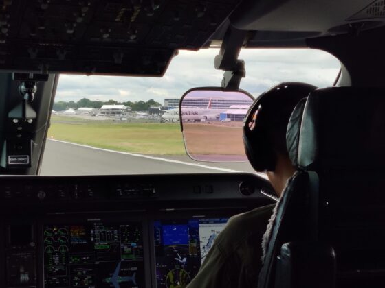
[[[292,241],[333,247],[337,287],[382,287],[375,285],[385,280],[385,89],[314,91],[292,115],[287,147],[299,180],[278,206],[259,287],[280,287],[276,259]],[[307,219],[292,216],[298,209]]]

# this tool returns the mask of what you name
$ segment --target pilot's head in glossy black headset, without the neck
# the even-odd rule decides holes
[[[316,88],[301,82],[284,82],[262,93],[250,106],[243,124],[243,144],[256,171],[275,170],[276,143],[272,130],[285,125],[286,131],[296,104]]]

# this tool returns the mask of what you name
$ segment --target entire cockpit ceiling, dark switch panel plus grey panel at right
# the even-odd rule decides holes
[[[178,49],[248,30],[246,47],[384,25],[385,0],[6,0],[0,71],[162,76]]]

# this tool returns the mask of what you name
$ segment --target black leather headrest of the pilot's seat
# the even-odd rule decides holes
[[[310,93],[289,121],[287,149],[296,167],[311,171],[384,165],[385,88],[333,87]]]

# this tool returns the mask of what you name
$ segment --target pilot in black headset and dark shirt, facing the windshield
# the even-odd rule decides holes
[[[300,82],[279,84],[261,94],[246,116],[246,154],[256,171],[267,174],[277,197],[281,197],[296,172],[286,148],[289,118],[296,104],[314,89],[315,86]],[[274,217],[275,206],[262,206],[231,217],[187,287],[256,287],[263,265],[263,246],[269,239],[267,224]]]

